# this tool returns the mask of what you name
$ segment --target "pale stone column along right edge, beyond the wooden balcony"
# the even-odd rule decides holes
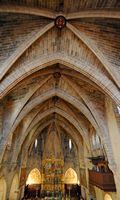
[[[116,189],[117,189],[117,199],[120,199],[120,133],[113,110],[112,101],[109,98],[106,98],[106,117],[108,131],[111,141],[111,148],[114,155],[115,166],[109,166],[114,173]]]

